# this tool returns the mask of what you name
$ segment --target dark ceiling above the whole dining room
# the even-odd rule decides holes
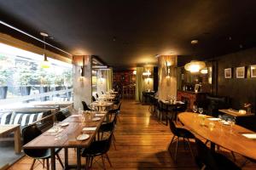
[[[0,16],[36,37],[47,32],[71,54],[125,67],[155,63],[155,54],[207,59],[253,47],[255,7],[254,0],[0,0]]]

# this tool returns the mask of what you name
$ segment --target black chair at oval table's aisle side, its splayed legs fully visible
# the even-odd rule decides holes
[[[183,143],[187,142],[189,144],[190,153],[194,157],[194,154],[193,154],[193,151],[191,149],[190,142],[189,142],[189,139],[195,139],[194,134],[190,133],[189,130],[187,130],[185,128],[176,127],[175,123],[172,121],[171,118],[169,118],[169,124],[170,124],[171,132],[173,134],[171,143],[169,144],[169,147],[168,147],[168,150],[169,150],[171,156],[172,156],[171,147],[172,147],[172,144],[174,143],[174,139],[177,138],[176,140],[177,140],[177,144],[178,144],[179,139],[182,138]],[[175,153],[174,153],[174,157],[173,157],[174,161],[176,161],[176,157],[177,157],[177,144],[176,144]]]

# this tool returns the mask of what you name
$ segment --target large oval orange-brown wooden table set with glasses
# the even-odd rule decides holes
[[[207,118],[209,117],[211,116],[207,116]],[[178,119],[183,122],[185,127],[188,127],[192,133],[211,141],[212,150],[215,150],[215,144],[218,144],[227,150],[232,150],[242,156],[256,160],[256,140],[247,139],[241,135],[242,133],[255,132],[238,125],[232,127],[232,132],[230,132],[230,126],[222,125],[220,122],[210,121],[207,118],[205,125],[202,126],[200,124],[200,117],[195,113],[183,112],[178,115]],[[210,122],[215,123],[215,127],[212,130],[209,128]]]

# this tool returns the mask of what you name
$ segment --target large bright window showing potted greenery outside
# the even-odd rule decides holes
[[[43,59],[42,55],[0,43],[0,105],[7,104],[3,102],[6,99],[72,100],[72,65],[48,58],[51,65],[44,69]]]

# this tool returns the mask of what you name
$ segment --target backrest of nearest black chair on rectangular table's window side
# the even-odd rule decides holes
[[[42,132],[37,125],[24,127],[22,129],[23,144],[27,144],[28,142],[32,141],[32,139],[37,138],[40,134],[42,134]]]

